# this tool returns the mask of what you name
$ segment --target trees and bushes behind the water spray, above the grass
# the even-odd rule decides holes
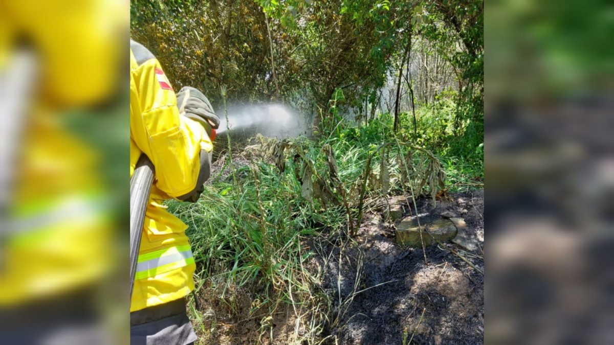
[[[455,136],[481,144],[483,1],[133,0],[131,12],[133,39],[214,105],[227,86],[230,103],[276,99],[317,122],[343,90],[368,121],[446,98]]]

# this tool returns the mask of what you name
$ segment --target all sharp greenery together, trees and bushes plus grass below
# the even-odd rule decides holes
[[[313,138],[217,147],[225,163],[198,203],[168,203],[189,225],[202,343],[222,328],[207,308],[257,318],[262,341],[284,306],[299,341],[321,341],[343,308],[306,267],[310,241],[351,244],[387,195],[481,187],[483,1],[133,0],[131,14],[177,88],[313,123]]]

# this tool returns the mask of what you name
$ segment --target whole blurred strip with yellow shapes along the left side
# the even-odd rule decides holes
[[[128,343],[128,7],[0,2],[0,343]]]

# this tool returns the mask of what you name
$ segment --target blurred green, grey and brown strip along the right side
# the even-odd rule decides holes
[[[614,6],[485,9],[484,341],[612,343]]]

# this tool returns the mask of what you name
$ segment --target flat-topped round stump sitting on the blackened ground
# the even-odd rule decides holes
[[[447,242],[453,239],[457,233],[454,223],[449,219],[439,218],[431,222],[421,222],[421,227],[424,246],[432,246],[437,244],[437,241]],[[415,219],[403,220],[397,225],[397,244],[414,248],[422,247],[420,228]]]

